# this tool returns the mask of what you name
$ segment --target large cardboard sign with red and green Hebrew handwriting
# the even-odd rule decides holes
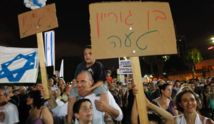
[[[168,3],[95,3],[89,10],[92,50],[98,59],[177,53]]]

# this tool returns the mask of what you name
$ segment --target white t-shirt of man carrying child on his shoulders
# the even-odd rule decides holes
[[[107,91],[107,95],[108,95],[108,100],[109,100],[109,105],[112,106],[113,108],[115,108],[116,110],[119,111],[119,115],[117,118],[115,118],[115,120],[117,121],[121,121],[123,119],[123,112],[121,110],[121,108],[119,107],[119,105],[116,103],[114,97],[112,96],[112,94]],[[92,107],[93,107],[93,124],[105,124],[104,122],[104,112],[101,112],[99,110],[96,109],[96,105],[95,105],[95,100],[99,100],[100,96],[96,96],[94,93],[85,96],[84,98],[89,99],[92,103]],[[77,120],[75,121],[75,124],[78,124]]]

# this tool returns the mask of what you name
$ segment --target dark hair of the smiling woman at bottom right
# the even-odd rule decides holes
[[[198,102],[200,101],[199,97],[197,96],[197,94],[195,92],[193,92],[190,87],[183,87],[175,96],[175,105],[177,107],[177,110],[180,112],[184,112],[184,109],[181,107],[180,103],[181,103],[181,98],[184,94],[186,93],[191,93],[194,97],[195,100],[197,102],[197,104],[199,104]],[[198,109],[198,106],[197,106]]]

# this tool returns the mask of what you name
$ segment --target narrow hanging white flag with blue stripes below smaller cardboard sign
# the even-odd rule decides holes
[[[45,32],[45,58],[46,66],[55,66],[55,33]]]

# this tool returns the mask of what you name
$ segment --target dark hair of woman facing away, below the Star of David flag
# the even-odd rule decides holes
[[[45,103],[45,99],[42,97],[41,91],[39,90],[30,91],[28,97],[33,99],[33,107],[36,107],[38,109]]]

